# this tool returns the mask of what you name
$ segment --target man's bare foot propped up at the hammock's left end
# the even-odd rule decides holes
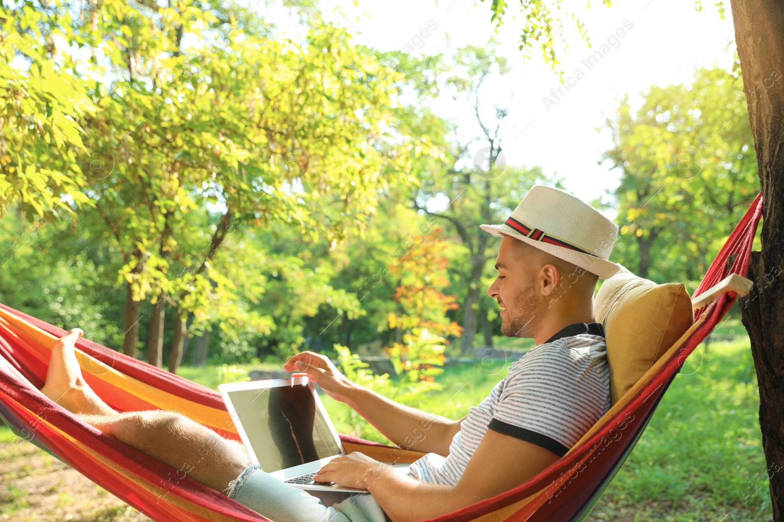
[[[82,368],[74,352],[76,340],[82,333],[82,329],[74,328],[53,345],[41,392],[72,413],[115,413],[82,378]]]

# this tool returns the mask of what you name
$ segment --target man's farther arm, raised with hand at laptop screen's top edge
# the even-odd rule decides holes
[[[289,372],[307,373],[330,397],[345,402],[394,444],[418,452],[448,455],[460,422],[398,404],[375,391],[352,383],[324,355],[303,351],[283,365]]]

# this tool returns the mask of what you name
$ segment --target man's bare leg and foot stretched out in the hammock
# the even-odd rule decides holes
[[[82,378],[74,355],[81,334],[82,330],[72,329],[53,347],[43,394],[103,433],[218,491],[227,490],[229,482],[250,465],[242,445],[178,413],[111,409]]]

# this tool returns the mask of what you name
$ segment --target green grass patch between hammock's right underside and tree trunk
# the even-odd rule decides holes
[[[771,520],[748,338],[698,348],[662,398],[593,520]]]

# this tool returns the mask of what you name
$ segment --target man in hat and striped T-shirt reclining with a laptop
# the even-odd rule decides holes
[[[350,405],[390,441],[426,452],[408,473],[360,452],[339,457],[315,477],[371,495],[323,506],[250,466],[241,445],[172,412],[114,412],[82,380],[74,358],[81,334],[54,347],[42,391],[85,422],[195,480],[226,491],[275,522],[409,522],[439,517],[488,499],[559,459],[610,407],[604,330],[593,322],[598,277],[618,227],[558,189],[537,185],[503,225],[481,225],[503,237],[488,295],[501,307],[508,337],[536,346],[511,365],[481,404],[459,421],[427,415],[351,383],[329,362],[302,352],[284,369],[307,373],[332,398]],[[211,448],[192,463],[197,448]]]

